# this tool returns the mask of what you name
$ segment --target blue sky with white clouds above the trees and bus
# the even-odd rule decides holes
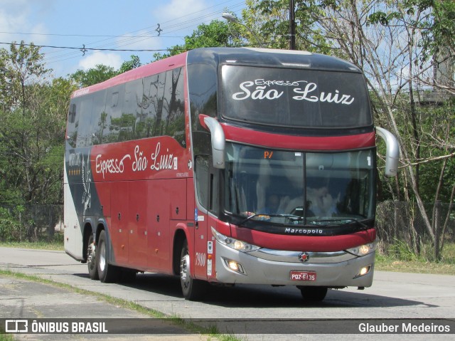
[[[183,43],[201,23],[237,14],[245,0],[1,0],[0,42],[106,49],[165,49]],[[160,25],[158,36],[156,28]],[[0,44],[0,48],[9,48]],[[119,68],[132,54],[142,63],[154,52],[42,48],[47,68],[65,76],[96,64]]]

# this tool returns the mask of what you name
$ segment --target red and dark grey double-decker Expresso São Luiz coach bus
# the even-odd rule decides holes
[[[376,134],[361,70],[303,51],[200,48],[75,91],[65,251],[92,279],[372,284]]]

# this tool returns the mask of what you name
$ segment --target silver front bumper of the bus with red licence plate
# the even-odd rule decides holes
[[[259,249],[236,251],[216,242],[216,279],[220,283],[369,287],[375,252],[354,256],[346,251],[303,253]]]

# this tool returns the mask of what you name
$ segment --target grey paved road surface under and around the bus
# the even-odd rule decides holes
[[[360,322],[377,319],[376,323],[390,318],[449,318],[455,320],[455,276],[376,271],[371,288],[329,290],[322,303],[304,305],[299,290],[287,286],[278,288],[268,285],[237,285],[234,288],[211,287],[202,303],[184,300],[181,296],[178,278],[171,276],[145,273],[138,275],[134,283],[100,283],[90,280],[85,264],[77,263],[63,251],[0,248],[0,268],[68,283],[77,288],[106,293],[117,298],[131,300],[162,313],[178,314],[182,318],[220,319],[227,325],[220,324],[218,329],[223,331],[225,327],[226,332],[235,332],[236,335],[247,340],[309,340],[316,339],[316,337],[319,340],[321,338],[325,340],[326,337],[330,337],[326,334],[296,334],[296,325],[292,321],[298,318],[316,319],[314,324],[316,333],[321,333],[321,323],[325,323],[328,325],[328,334],[335,334],[338,330],[342,330],[343,324],[346,325],[348,323],[346,321],[349,321],[331,323],[335,319],[357,319]],[[5,304],[0,300],[0,308]],[[15,310],[12,312],[13,314],[18,313]],[[107,309],[97,316],[107,318],[118,315],[116,315],[115,309]],[[11,318],[20,317],[11,316]],[[79,311],[74,312],[72,317],[91,316]],[[286,322],[277,325],[273,323],[273,320],[267,319],[282,319]],[[239,320],[252,321],[245,322],[243,334],[242,330],[238,330]],[[374,324],[373,322],[372,324]],[[284,323],[289,325],[287,334],[283,334],[282,330],[278,334],[274,334],[277,332],[277,327],[283,328]],[[258,328],[260,329],[258,333],[251,331],[257,331]],[[452,327],[451,335],[415,334],[412,338],[413,340],[453,340],[453,329]],[[374,334],[368,335],[368,338],[384,340],[386,337],[387,339],[402,340],[403,336]],[[337,337],[338,340],[340,338],[345,337]],[[346,340],[364,339],[364,334],[346,335]]]

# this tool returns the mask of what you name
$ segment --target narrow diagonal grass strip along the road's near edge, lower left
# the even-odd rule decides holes
[[[41,278],[39,276],[26,275],[24,273],[16,273],[14,271],[0,270],[0,275],[19,278],[22,280],[30,280],[30,281],[33,281],[36,283],[42,283],[45,285],[52,285],[55,288],[63,288],[65,290],[70,290],[74,293],[79,293],[81,295],[90,295],[90,296],[97,298],[97,300],[100,300],[100,301],[103,301],[103,302],[106,302],[106,303],[109,303],[112,305],[116,305],[117,307],[120,307],[120,308],[126,308],[129,310],[137,311],[138,313],[149,316],[150,318],[164,319],[173,325],[177,325],[178,327],[182,327],[183,329],[188,330],[188,332],[196,333],[196,334],[200,334],[200,335],[206,335],[208,337],[207,340],[211,340],[211,337],[214,337],[216,340],[220,340],[220,341],[243,341],[242,338],[236,337],[235,335],[221,334],[218,331],[218,328],[214,325],[210,326],[210,327],[202,327],[200,325],[196,325],[193,322],[189,322],[188,320],[185,320],[176,314],[166,315],[164,313],[159,312],[158,310],[146,308],[137,303],[130,302],[128,300],[123,300],[122,298],[114,298],[110,295],[106,295],[103,293],[93,293],[92,291],[80,289],[80,288],[74,287],[73,285],[69,285],[69,284],[65,284],[65,283],[58,283],[58,282],[54,282],[53,280]],[[12,340],[14,340],[14,337],[11,337],[11,335],[0,334],[0,341],[12,341]]]

